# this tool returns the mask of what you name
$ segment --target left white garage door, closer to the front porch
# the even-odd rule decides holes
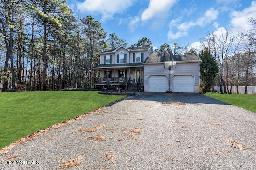
[[[149,76],[149,92],[166,92],[168,90],[168,78],[166,76]]]

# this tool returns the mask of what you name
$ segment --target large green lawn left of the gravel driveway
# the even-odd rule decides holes
[[[0,149],[121,98],[124,96],[102,95],[97,91],[0,93]]]

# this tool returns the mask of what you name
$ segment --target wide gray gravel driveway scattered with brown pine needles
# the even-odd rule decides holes
[[[3,170],[255,170],[256,113],[201,94],[140,92],[0,160]]]

